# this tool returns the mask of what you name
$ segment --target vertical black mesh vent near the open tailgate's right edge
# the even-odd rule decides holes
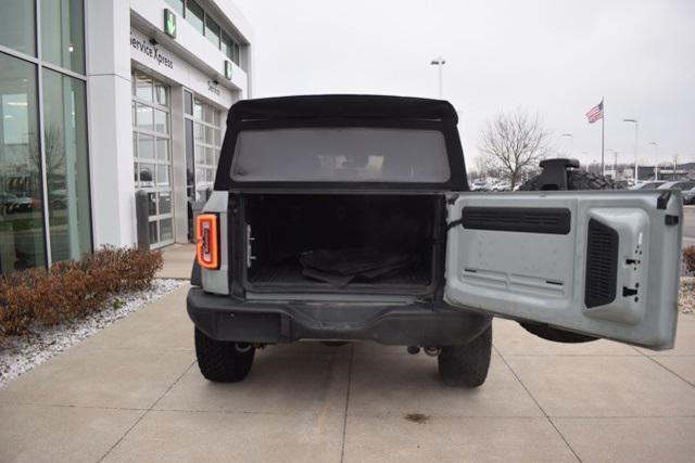
[[[584,304],[592,308],[616,298],[619,237],[616,230],[594,219],[589,220],[587,234]]]

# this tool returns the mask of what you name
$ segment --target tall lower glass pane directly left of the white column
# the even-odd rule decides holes
[[[45,68],[43,143],[53,261],[91,253],[85,82]]]

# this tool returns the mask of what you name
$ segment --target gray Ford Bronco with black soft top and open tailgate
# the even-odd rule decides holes
[[[476,387],[492,317],[671,348],[680,193],[586,191],[599,179],[571,160],[546,163],[534,191],[469,192],[456,125],[439,100],[236,103],[197,217],[202,374],[241,381],[269,344],[372,340],[424,348],[444,383]]]

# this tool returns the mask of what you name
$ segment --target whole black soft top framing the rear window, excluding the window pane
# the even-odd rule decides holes
[[[227,132],[215,177],[215,190],[409,190],[466,191],[466,166],[451,103],[410,97],[317,94],[263,98],[235,103],[227,115]],[[291,127],[395,127],[440,130],[444,134],[451,178],[445,182],[248,181],[231,178],[240,132]],[[281,153],[278,153],[280,156]]]

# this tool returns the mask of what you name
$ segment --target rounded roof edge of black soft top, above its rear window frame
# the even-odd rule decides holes
[[[368,94],[317,94],[241,100],[229,110],[227,124],[239,120],[302,118],[441,120],[458,117],[447,101]]]

